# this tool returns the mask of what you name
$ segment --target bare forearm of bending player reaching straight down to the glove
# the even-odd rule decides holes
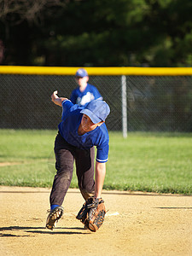
[[[95,196],[96,198],[102,197],[102,187],[106,174],[106,163],[96,161],[96,177],[95,177]]]

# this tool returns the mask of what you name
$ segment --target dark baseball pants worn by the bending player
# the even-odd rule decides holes
[[[75,161],[79,189],[86,200],[94,195],[95,148],[79,149],[67,143],[60,132],[55,137],[55,168],[53,186],[49,196],[50,205],[61,206],[73,177]]]

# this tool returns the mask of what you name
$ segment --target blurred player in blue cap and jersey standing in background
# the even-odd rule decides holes
[[[86,103],[92,100],[102,100],[102,96],[96,87],[88,84],[89,76],[84,68],[79,68],[75,74],[75,80],[79,84],[79,87],[72,91],[70,100],[73,102],[73,104],[84,106]]]

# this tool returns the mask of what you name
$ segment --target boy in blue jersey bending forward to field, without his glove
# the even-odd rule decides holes
[[[54,148],[57,172],[49,196],[50,212],[46,222],[46,227],[53,230],[63,213],[61,205],[73,177],[74,160],[79,189],[84,200],[92,195],[94,199],[101,198],[109,142],[105,119],[110,108],[102,100],[93,100],[84,107],[79,107],[67,98],[57,96],[57,90],[52,94],[51,100],[62,107]],[[97,148],[95,181],[94,146]]]

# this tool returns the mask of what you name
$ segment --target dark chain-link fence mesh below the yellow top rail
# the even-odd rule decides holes
[[[125,106],[121,76],[90,76],[89,83],[111,108],[108,131],[122,131],[123,115],[128,131],[192,131],[192,76],[125,76]],[[57,129],[61,108],[50,95],[70,97],[77,86],[69,75],[0,74],[0,128]]]

